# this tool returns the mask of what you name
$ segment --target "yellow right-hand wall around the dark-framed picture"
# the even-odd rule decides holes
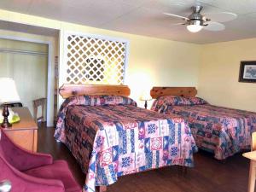
[[[256,84],[238,82],[240,61],[256,60],[256,38],[202,45],[198,95],[208,102],[256,112]]]

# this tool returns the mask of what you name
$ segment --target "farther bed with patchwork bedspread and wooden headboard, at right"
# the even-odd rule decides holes
[[[198,148],[218,160],[249,149],[256,130],[256,113],[223,108],[195,97],[195,87],[154,87],[152,110],[181,115],[188,123]]]

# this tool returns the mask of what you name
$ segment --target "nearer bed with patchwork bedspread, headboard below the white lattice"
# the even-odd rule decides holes
[[[60,93],[67,99],[55,139],[67,145],[86,174],[84,191],[106,190],[131,173],[194,165],[197,147],[184,119],[137,108],[127,86],[64,84]]]

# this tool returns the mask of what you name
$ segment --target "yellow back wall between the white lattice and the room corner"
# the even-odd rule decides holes
[[[156,38],[132,37],[127,73],[136,100],[152,86],[196,86],[200,46]],[[139,102],[137,100],[137,102]],[[143,106],[143,102],[139,102]],[[149,102],[149,105],[151,102]]]

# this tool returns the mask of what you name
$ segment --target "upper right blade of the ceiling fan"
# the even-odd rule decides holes
[[[230,12],[220,12],[220,13],[209,13],[204,16],[205,18],[209,18],[212,21],[216,22],[227,22],[230,20],[236,20],[237,15]]]

